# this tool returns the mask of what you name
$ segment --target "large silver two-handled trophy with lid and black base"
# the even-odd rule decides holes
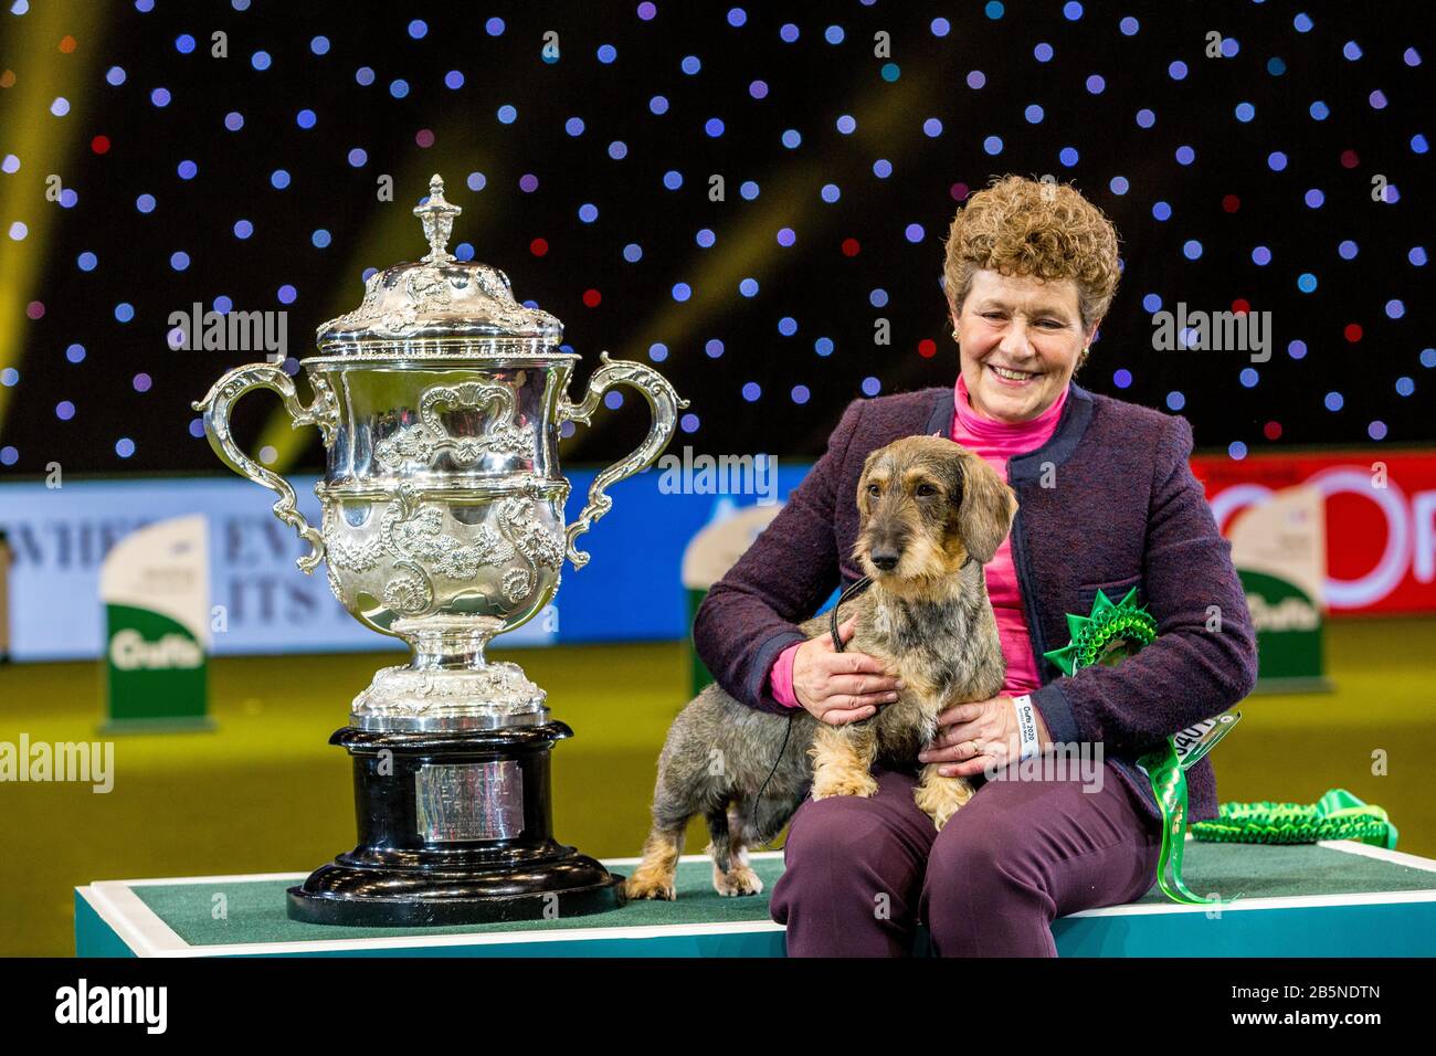
[[[355,619],[412,651],[375,674],[330,741],[355,759],[360,843],[290,889],[296,920],[457,924],[622,902],[622,878],[551,836],[549,756],[573,731],[517,664],[484,649],[544,609],[564,557],[587,563],[574,540],[612,507],[606,488],[662,454],[688,401],[605,352],[574,404],[563,325],[518,305],[497,267],[447,251],[460,211],[435,175],[414,210],[429,251],[372,274],[363,303],[319,328],[320,353],[302,361],[309,405],[274,363],[234,368],[194,405],[225,466],[279,494],[274,514],[312,546],[300,569],[325,562]],[[616,385],[648,401],[652,428],[566,526],[560,428],[587,424]],[[323,437],[317,530],[289,481],[230,432],[234,402],[256,388]]]

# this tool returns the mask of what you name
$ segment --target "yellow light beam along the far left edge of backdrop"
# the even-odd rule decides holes
[[[11,70],[14,78],[9,88],[0,88],[0,157],[14,154],[20,159],[17,171],[0,172],[0,371],[19,369],[24,362],[30,326],[26,306],[36,299],[45,270],[53,263],[47,236],[62,213],[57,201],[46,198],[46,181],[57,175],[62,188],[72,184],[66,167],[76,147],[88,139],[85,115],[109,9],[59,0],[33,3],[24,14],[11,14],[6,0],[0,11],[7,45],[0,49],[0,75]],[[75,40],[73,50],[60,50],[65,37]],[[50,112],[59,98],[69,103],[63,116]],[[76,190],[83,194],[85,188]],[[16,223],[24,224],[24,238],[10,237]],[[0,385],[0,427],[10,394]]]

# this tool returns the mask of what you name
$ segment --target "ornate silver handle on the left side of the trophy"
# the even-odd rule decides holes
[[[294,394],[294,381],[284,374],[281,366],[277,363],[248,363],[246,366],[236,366],[227,372],[214,382],[204,399],[192,404],[195,411],[204,411],[204,435],[210,440],[210,447],[214,448],[214,453],[220,455],[220,461],[241,477],[248,477],[256,484],[263,484],[270,491],[279,493],[279,501],[274,503],[274,516],[286,524],[293,526],[312,547],[309,553],[296,562],[304,573],[313,572],[319,562],[325,559],[325,539],[304,520],[304,514],[299,511],[294,501],[294,488],[290,483],[273,470],[267,470],[250,458],[234,443],[234,435],[230,432],[230,408],[251,389],[274,389],[283,401],[284,409],[289,411],[290,425],[296,430],[300,425],[317,425],[327,447],[339,424],[335,394],[323,378],[313,378],[312,385],[314,401],[309,407],[304,407]]]

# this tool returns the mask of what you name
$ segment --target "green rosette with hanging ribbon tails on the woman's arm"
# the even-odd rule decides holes
[[[1116,667],[1157,636],[1157,622],[1136,603],[1137,588],[1113,602],[1097,590],[1090,616],[1067,613],[1071,641],[1060,649],[1044,652],[1067,675],[1084,667]],[[1186,905],[1222,904],[1221,898],[1192,894],[1182,881],[1182,853],[1186,848],[1186,770],[1211,751],[1241,720],[1241,711],[1228,711],[1166,738],[1166,744],[1137,760],[1137,767],[1152,782],[1162,812],[1162,856],[1157,861],[1157,885],[1173,902]],[[1170,878],[1167,872],[1170,871]],[[1238,894],[1231,901],[1241,898]]]

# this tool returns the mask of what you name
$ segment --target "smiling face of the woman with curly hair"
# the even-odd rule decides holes
[[[1030,421],[1061,395],[1097,332],[1084,332],[1071,279],[978,272],[954,316],[962,381],[972,409],[998,421]]]

